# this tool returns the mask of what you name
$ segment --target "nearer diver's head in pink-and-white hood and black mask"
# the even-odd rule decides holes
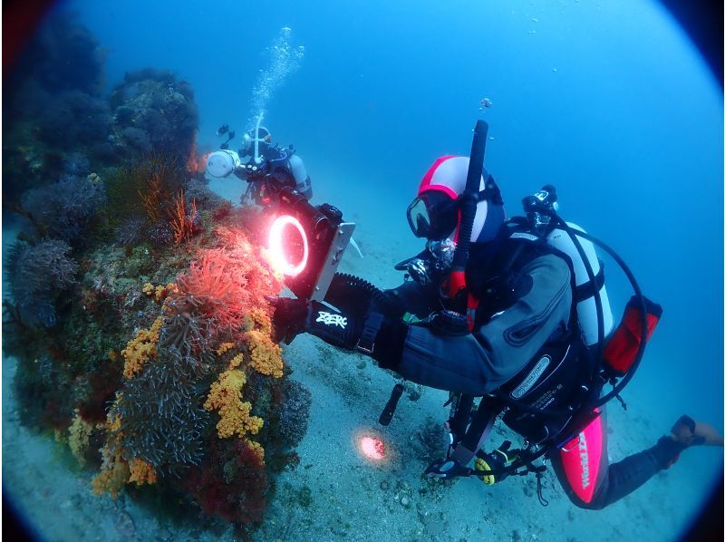
[[[467,156],[443,156],[433,162],[420,180],[418,196],[408,206],[408,223],[413,235],[434,241],[450,238],[458,242],[460,208],[457,198],[466,189],[468,172]],[[484,169],[480,190],[486,189],[489,184],[493,184],[493,179]],[[498,203],[488,199],[478,201],[471,243],[487,243],[493,240],[505,218],[500,200]]]

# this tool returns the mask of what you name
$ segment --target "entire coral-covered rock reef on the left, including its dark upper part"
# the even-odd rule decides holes
[[[251,529],[309,411],[271,339],[268,217],[199,178],[187,82],[140,70],[106,99],[102,50],[72,15],[39,35],[4,102],[3,205],[24,223],[3,314],[20,419],[100,467],[97,495]]]

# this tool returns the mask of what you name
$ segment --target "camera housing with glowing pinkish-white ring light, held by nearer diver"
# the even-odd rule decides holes
[[[278,216],[269,232],[273,263],[298,298],[322,302],[355,224],[343,222],[338,208],[315,207],[291,187],[280,189],[276,198]]]

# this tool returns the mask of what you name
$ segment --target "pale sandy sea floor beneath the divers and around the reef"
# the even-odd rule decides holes
[[[407,234],[407,232],[403,232]],[[4,232],[6,242],[10,232]],[[343,270],[381,286],[401,274],[392,266],[408,254],[372,237],[356,235],[365,257],[348,251]],[[697,508],[701,495],[683,465],[650,480],[602,511],[571,505],[553,472],[544,478],[543,508],[536,479],[515,477],[496,486],[478,479],[434,483],[422,471],[444,448],[442,407],[447,394],[408,387],[387,428],[377,422],[395,379],[359,354],[337,352],[311,336],[285,347],[292,378],[312,392],[309,428],[297,449],[300,464],[278,479],[274,499],[256,540],[672,540]],[[18,422],[11,381],[15,364],[3,360],[3,487],[48,540],[215,540],[231,529],[211,529],[160,512],[129,494],[112,500],[92,495],[94,472],[78,467],[67,447]],[[632,393],[629,411],[609,406],[613,461],[643,450],[666,429],[651,421],[647,402]],[[667,426],[669,427],[669,426]],[[383,440],[386,458],[366,459],[362,436]],[[510,435],[495,429],[490,444]],[[515,441],[516,444],[516,441]],[[713,452],[715,453],[715,452]],[[682,463],[683,461],[681,461]]]

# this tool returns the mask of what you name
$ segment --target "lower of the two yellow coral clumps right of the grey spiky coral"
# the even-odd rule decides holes
[[[249,415],[252,404],[242,402],[242,388],[245,383],[247,383],[245,373],[230,369],[219,375],[218,382],[211,384],[204,408],[208,411],[218,411],[220,419],[217,431],[221,439],[233,435],[244,437],[247,432],[256,434],[264,424],[261,418]]]

